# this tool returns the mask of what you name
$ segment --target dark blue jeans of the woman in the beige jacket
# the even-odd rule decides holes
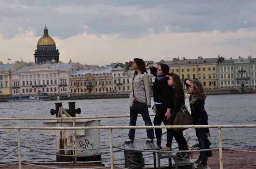
[[[136,126],[137,117],[138,117],[138,113],[134,110],[131,110],[131,107],[130,107],[130,123],[129,123],[130,126]],[[152,126],[152,122],[148,114],[147,107],[143,109],[142,118],[146,126]],[[154,130],[153,129],[146,129],[146,130],[147,130],[147,138],[153,139]],[[135,135],[135,129],[130,129],[128,134],[129,139],[134,140],[134,135]]]

